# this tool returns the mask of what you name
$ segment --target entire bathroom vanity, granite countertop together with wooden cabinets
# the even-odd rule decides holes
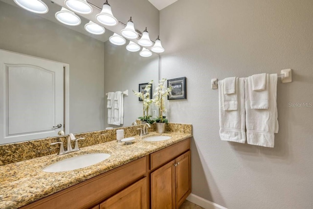
[[[0,191],[7,193],[1,196],[0,208],[178,208],[191,192],[192,135],[167,135],[171,139],[145,141],[135,136],[130,145],[112,140],[64,156],[2,165]],[[97,152],[110,153],[111,157],[77,170],[42,171],[62,159]],[[7,169],[6,174],[3,169]]]

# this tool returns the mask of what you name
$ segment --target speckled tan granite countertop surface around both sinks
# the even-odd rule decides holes
[[[155,132],[149,135],[156,135]],[[81,148],[65,155],[48,155],[18,163],[0,166],[0,208],[13,209],[27,205],[50,194],[61,191],[118,166],[130,163],[162,148],[192,137],[191,134],[166,132],[171,139],[145,141],[134,136],[134,143],[126,145],[116,140]],[[48,173],[42,171],[47,165],[63,159],[88,154],[109,153],[111,157],[94,165],[72,171]]]

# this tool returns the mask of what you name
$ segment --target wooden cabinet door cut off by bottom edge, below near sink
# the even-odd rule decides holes
[[[147,178],[104,201],[100,204],[100,209],[147,209]]]

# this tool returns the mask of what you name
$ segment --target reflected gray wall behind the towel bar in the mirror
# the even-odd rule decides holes
[[[128,43],[127,43],[128,44]],[[158,55],[141,57],[138,52],[130,52],[124,46],[114,46],[110,42],[104,44],[104,89],[106,93],[116,91],[129,91],[124,96],[124,124],[130,126],[139,116],[142,116],[142,101],[138,101],[132,90],[138,92],[138,84],[154,80],[153,89],[158,83]],[[150,111],[156,109],[151,105]],[[105,111],[106,127],[108,125],[108,112]]]

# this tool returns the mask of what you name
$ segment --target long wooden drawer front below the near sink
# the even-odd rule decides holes
[[[88,209],[146,176],[146,157],[59,191],[22,209]]]

